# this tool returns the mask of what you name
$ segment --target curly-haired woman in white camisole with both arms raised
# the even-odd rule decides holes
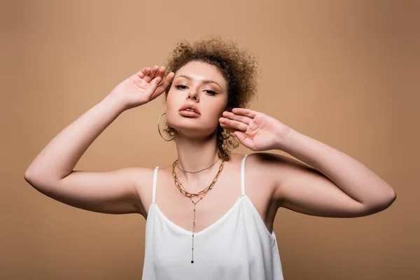
[[[389,207],[395,192],[349,155],[244,109],[257,73],[253,56],[229,41],[180,43],[166,69],[144,68],[127,78],[52,139],[25,179],[73,207],[147,218],[144,279],[283,279],[273,232],[279,207],[360,217]],[[161,136],[171,137],[178,152],[172,165],[73,170],[120,113],[163,92],[167,134]],[[307,165],[273,153],[231,153],[236,139]]]

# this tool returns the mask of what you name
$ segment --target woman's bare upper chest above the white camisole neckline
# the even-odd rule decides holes
[[[267,230],[271,232],[276,213],[271,203],[272,189],[269,186],[261,186],[262,179],[258,180],[251,174],[245,175],[244,182],[244,193],[258,211]],[[190,193],[197,193],[208,186],[205,183],[202,183],[202,186],[184,184]],[[179,191],[169,172],[158,174],[155,192],[155,203],[160,214],[170,223],[188,232],[202,232],[234,210],[242,194],[241,172],[240,169],[226,170],[203,199],[195,204],[193,201],[197,200],[191,201]],[[149,209],[150,204],[146,209]]]

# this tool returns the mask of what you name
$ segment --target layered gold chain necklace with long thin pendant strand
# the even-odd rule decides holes
[[[187,171],[184,171],[183,169],[181,169],[178,166],[178,160],[175,160],[174,163],[172,164],[172,176],[174,177],[174,182],[175,182],[176,188],[178,188],[178,190],[184,196],[188,197],[191,200],[191,202],[193,202],[193,204],[194,204],[194,209],[193,209],[193,211],[194,211],[194,218],[193,218],[193,239],[192,239],[192,245],[191,245],[191,263],[194,263],[195,204],[197,204],[198,202],[200,202],[203,199],[203,197],[205,195],[207,195],[207,193],[209,193],[209,191],[211,190],[211,188],[213,188],[214,184],[216,183],[216,181],[218,179],[219,174],[221,174],[221,172],[222,172],[222,169],[223,169],[223,165],[225,163],[225,160],[222,160],[221,165],[219,166],[218,172],[217,172],[216,176],[214,176],[213,181],[211,181],[211,183],[209,184],[209,186],[207,186],[206,188],[204,188],[204,190],[201,190],[199,193],[188,193],[186,191],[186,188],[184,188],[182,186],[181,182],[178,179],[178,176],[176,176],[175,167],[178,167],[179,169],[181,169],[181,171],[186,172],[186,173],[197,173],[197,172],[202,172],[202,171],[204,171],[206,169],[209,169],[210,167],[212,167],[213,165],[215,165],[217,161],[218,160],[216,160],[209,167],[204,168],[204,169],[201,169],[201,170],[196,171],[196,172],[187,172]]]

